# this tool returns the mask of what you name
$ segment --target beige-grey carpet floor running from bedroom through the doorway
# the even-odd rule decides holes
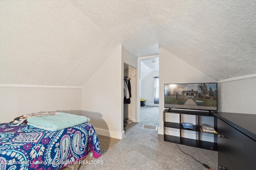
[[[84,158],[74,170],[207,170],[182,153],[176,144],[165,142],[157,131],[142,129],[144,124],[158,125],[158,107],[141,107],[141,122],[127,124],[122,140],[98,135],[102,156]],[[217,170],[218,152],[178,145],[187,154]],[[63,168],[69,170],[70,168]]]

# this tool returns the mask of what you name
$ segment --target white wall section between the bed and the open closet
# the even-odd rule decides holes
[[[82,89],[82,115],[96,133],[122,139],[122,45],[91,76]]]

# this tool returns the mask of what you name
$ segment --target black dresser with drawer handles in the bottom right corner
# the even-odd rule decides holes
[[[256,114],[213,114],[218,118],[218,168],[256,170]]]

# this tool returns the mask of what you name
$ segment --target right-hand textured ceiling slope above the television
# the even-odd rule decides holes
[[[162,47],[216,81],[256,73],[255,0],[72,3],[138,57]]]

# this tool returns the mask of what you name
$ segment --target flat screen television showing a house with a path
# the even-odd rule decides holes
[[[164,107],[217,111],[217,83],[164,84]]]

